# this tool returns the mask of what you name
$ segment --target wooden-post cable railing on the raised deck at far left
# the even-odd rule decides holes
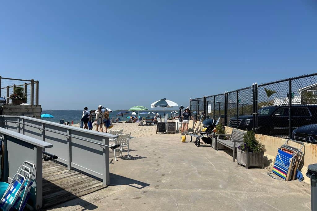
[[[0,96],[4,97],[7,104],[12,103],[10,95],[14,92],[14,87],[22,87],[23,92],[26,95],[26,101],[21,101],[29,105],[38,105],[38,88],[39,82],[33,79],[24,80],[16,78],[2,78],[0,76]],[[21,103],[19,103],[21,104]]]

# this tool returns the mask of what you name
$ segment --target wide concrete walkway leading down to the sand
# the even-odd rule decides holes
[[[233,163],[230,150],[201,146],[179,134],[131,139],[132,159],[110,159],[109,187],[51,210],[310,210],[308,184],[275,180]]]

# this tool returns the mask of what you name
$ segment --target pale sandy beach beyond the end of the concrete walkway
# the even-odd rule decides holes
[[[79,127],[79,124],[71,125],[74,127]],[[123,133],[131,133],[131,137],[133,138],[140,138],[140,137],[146,137],[146,136],[152,136],[156,135],[156,125],[142,125],[139,126],[138,122],[135,123],[113,123],[112,130],[121,130],[123,129]],[[108,132],[111,130],[108,129]],[[94,126],[93,130],[96,130],[96,126]],[[105,128],[103,127],[103,130],[105,132]],[[159,135],[159,134],[157,134]]]

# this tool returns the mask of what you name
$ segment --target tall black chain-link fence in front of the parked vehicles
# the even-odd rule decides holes
[[[225,126],[317,140],[317,73],[190,99],[190,106],[196,119],[202,112]]]

